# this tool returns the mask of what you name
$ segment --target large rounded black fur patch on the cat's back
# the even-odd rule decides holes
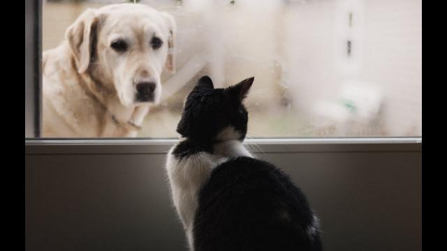
[[[213,169],[194,223],[196,251],[321,250],[305,195],[280,169],[255,158],[231,158]]]

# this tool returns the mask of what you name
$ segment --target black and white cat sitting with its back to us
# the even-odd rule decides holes
[[[274,165],[244,148],[243,100],[254,78],[214,89],[202,77],[189,93],[168,153],[173,201],[189,248],[321,250],[318,219],[305,195]]]

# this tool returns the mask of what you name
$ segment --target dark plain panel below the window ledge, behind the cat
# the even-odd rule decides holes
[[[164,153],[39,147],[26,146],[27,250],[186,250]],[[309,197],[325,250],[421,250],[420,144],[318,147],[260,158]]]

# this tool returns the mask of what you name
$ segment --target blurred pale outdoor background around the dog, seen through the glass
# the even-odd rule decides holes
[[[86,8],[133,1],[44,1],[43,50]],[[196,79],[254,76],[249,137],[422,136],[421,0],[135,1],[173,15],[177,73],[139,137],[177,137]]]

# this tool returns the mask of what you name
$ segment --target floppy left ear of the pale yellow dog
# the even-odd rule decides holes
[[[87,9],[78,19],[68,26],[65,37],[71,47],[71,51],[75,56],[78,73],[85,73],[89,67],[91,57],[91,43],[94,41],[97,23],[94,9]]]

